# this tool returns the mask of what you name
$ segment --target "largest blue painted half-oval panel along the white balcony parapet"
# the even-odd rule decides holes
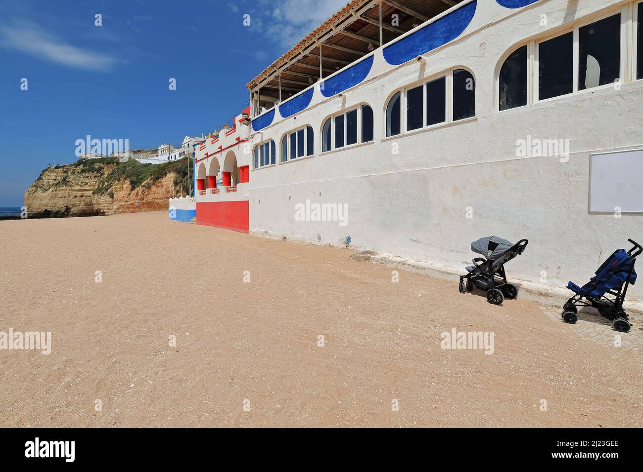
[[[388,64],[399,66],[453,41],[466,30],[476,12],[477,1],[467,3],[420,30],[395,41],[382,51]]]

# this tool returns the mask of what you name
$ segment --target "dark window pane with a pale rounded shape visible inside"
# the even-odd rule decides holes
[[[620,77],[620,13],[579,29],[578,89]]]

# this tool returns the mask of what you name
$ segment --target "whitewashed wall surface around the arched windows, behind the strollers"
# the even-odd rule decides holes
[[[365,82],[332,98],[316,87],[308,109],[287,119],[277,113],[271,127],[255,134],[255,143],[275,139],[278,164],[251,171],[251,232],[332,245],[350,235],[352,247],[452,267],[476,256],[469,247],[482,236],[527,238],[523,256],[507,266],[510,277],[538,282],[544,270],[556,286],[585,283],[613,250],[629,249],[628,238],[643,243],[643,216],[588,213],[590,153],[643,148],[643,81],[496,112],[495,76],[519,42],[621,4],[550,0],[509,10],[478,0],[466,31],[426,55],[426,64],[393,68],[374,51]],[[475,74],[476,118],[383,138],[395,90],[457,66]],[[374,110],[375,142],[320,155],[323,121],[361,102]],[[314,157],[279,163],[284,132],[306,124],[315,131]],[[527,135],[569,139],[569,161],[519,159],[516,140]],[[348,225],[296,221],[294,205],[307,199],[348,204]],[[467,207],[473,218],[466,218]],[[640,298],[643,283],[630,290]]]

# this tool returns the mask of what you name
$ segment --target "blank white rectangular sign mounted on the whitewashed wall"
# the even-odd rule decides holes
[[[589,207],[643,213],[643,150],[590,155]]]

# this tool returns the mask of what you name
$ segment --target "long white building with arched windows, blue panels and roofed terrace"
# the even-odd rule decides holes
[[[350,236],[453,272],[478,238],[527,238],[510,278],[568,297],[568,281],[643,242],[640,1],[397,4],[381,4],[379,22],[380,3],[352,0],[248,83],[251,156],[235,148],[225,170],[250,166],[249,232]],[[262,111],[266,100],[278,104]],[[214,143],[200,152],[204,182],[228,157],[208,157]],[[196,196],[197,222],[200,202],[224,199],[210,193]],[[314,204],[347,213],[302,218]],[[231,208],[219,206],[210,221]]]

